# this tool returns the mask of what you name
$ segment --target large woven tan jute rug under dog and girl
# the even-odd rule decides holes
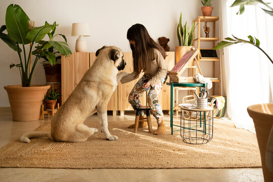
[[[111,116],[112,117],[112,116]],[[108,117],[109,118],[109,117]],[[127,118],[127,119],[126,119]],[[234,124],[214,120],[213,139],[203,145],[186,144],[180,132],[164,135],[138,133],[127,126],[134,116],[113,118],[109,130],[118,136],[107,141],[103,133],[92,135],[82,143],[53,142],[49,139],[31,139],[29,144],[12,142],[0,150],[0,167],[35,168],[241,168],[261,167],[256,135]],[[153,129],[156,122],[153,120]],[[169,120],[165,121],[169,126]],[[176,121],[177,123],[178,120]],[[98,116],[85,122],[100,129]],[[47,121],[37,131],[50,131]],[[176,128],[177,129],[177,128]]]

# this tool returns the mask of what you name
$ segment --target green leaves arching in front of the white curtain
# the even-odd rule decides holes
[[[245,6],[248,6],[248,5],[255,5],[255,6],[258,6],[258,5],[262,5],[262,6],[265,6],[268,10],[264,9],[264,8],[261,8],[265,13],[267,13],[268,15],[270,16],[273,16],[273,8],[271,8],[270,6],[268,6],[266,3],[264,3],[263,1],[261,0],[247,0],[247,1],[239,1],[239,0],[236,0],[231,7],[236,7],[236,6],[239,6],[240,9],[239,9],[239,12],[237,13],[238,14],[243,14],[244,11],[245,11]],[[227,48],[227,47],[230,47],[231,45],[234,45],[234,44],[237,44],[237,43],[249,43],[251,45],[254,45],[256,48],[258,48],[259,50],[261,50],[265,56],[271,61],[271,63],[273,64],[273,61],[272,59],[259,47],[260,45],[260,41],[258,38],[256,37],[253,37],[251,35],[248,36],[248,39],[249,40],[244,40],[244,39],[241,39],[241,38],[237,38],[233,35],[234,38],[231,38],[231,37],[227,37],[227,38],[224,38],[225,40],[223,41],[220,41],[214,48],[214,50],[219,50],[219,49],[223,49],[223,48]]]

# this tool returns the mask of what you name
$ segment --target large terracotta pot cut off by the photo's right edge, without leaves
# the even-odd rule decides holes
[[[266,167],[265,152],[269,133],[273,125],[273,103],[249,106],[247,112],[253,119],[255,125],[257,141],[261,154],[264,181],[272,181],[273,173]]]

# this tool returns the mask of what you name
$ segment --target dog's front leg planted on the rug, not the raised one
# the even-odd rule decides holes
[[[107,108],[105,110],[104,109],[101,110],[99,109],[99,107],[97,107],[97,110],[98,110],[98,116],[101,123],[101,130],[105,134],[106,139],[110,141],[118,140],[118,137],[115,135],[111,135],[111,133],[108,130]]]

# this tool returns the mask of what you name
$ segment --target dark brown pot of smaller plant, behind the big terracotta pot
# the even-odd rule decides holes
[[[62,81],[61,78],[61,64],[56,64],[52,66],[51,64],[42,65],[45,72],[45,80],[47,83],[60,83]]]

